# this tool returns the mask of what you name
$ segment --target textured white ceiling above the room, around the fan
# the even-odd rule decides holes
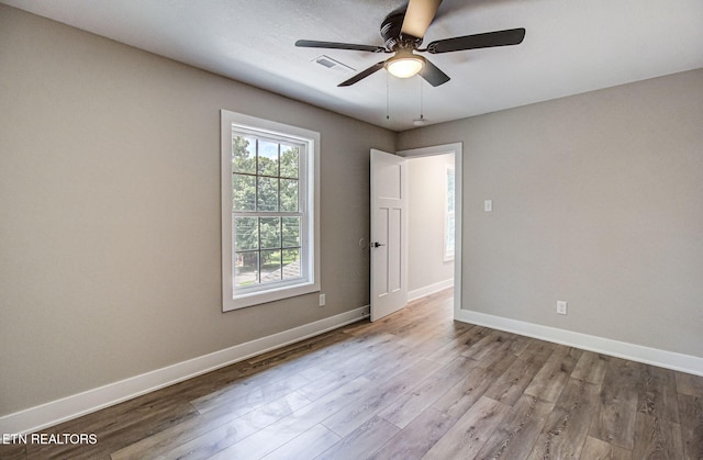
[[[298,48],[298,38],[383,45],[403,0],[0,0],[0,2],[372,124],[402,131],[703,67],[701,0],[445,0],[425,44],[525,27],[521,45],[425,55],[451,77],[433,88],[384,70],[389,55]],[[388,116],[388,117],[387,117]]]

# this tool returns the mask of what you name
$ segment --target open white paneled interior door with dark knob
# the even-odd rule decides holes
[[[371,321],[408,303],[408,165],[371,149]]]

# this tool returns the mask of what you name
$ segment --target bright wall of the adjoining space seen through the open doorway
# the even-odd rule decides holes
[[[409,291],[454,277],[454,261],[444,260],[447,166],[454,168],[454,154],[408,160]]]

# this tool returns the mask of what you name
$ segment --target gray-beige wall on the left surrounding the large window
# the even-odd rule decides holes
[[[0,75],[0,415],[369,303],[394,133],[5,5]],[[325,307],[221,312],[220,109],[321,133]]]

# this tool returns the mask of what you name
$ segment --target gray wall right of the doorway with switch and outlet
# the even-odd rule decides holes
[[[703,70],[404,132],[398,147],[451,142],[462,308],[703,357]]]

